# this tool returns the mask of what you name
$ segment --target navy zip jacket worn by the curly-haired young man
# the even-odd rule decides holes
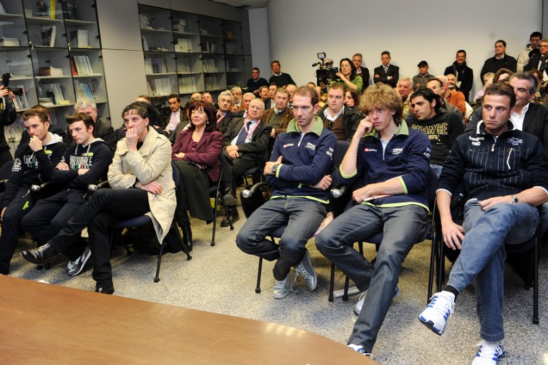
[[[404,194],[377,198],[364,204],[398,207],[416,204],[428,210],[428,175],[432,153],[430,140],[423,131],[408,128],[401,121],[396,133],[382,151],[377,131],[364,136],[358,145],[357,170],[348,176],[339,171],[340,182],[362,188],[368,184],[399,179]]]

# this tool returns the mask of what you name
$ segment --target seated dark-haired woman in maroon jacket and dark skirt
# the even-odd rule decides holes
[[[216,112],[206,101],[195,101],[188,108],[190,124],[179,132],[171,159],[179,169],[181,181],[177,189],[175,221],[183,230],[183,238],[192,248],[190,215],[203,221],[213,221],[209,187],[219,180],[219,154],[223,135],[216,128]]]

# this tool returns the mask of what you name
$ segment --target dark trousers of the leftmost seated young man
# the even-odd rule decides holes
[[[15,194],[4,212],[2,219],[2,236],[0,237],[0,274],[10,273],[10,261],[19,240],[21,219],[30,212],[34,202],[31,199],[29,188],[22,186]]]

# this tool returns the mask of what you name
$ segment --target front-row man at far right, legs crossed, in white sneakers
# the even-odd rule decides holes
[[[482,121],[453,144],[436,192],[443,241],[461,251],[445,290],[434,294],[419,320],[441,335],[458,295],[475,281],[482,342],[474,365],[497,364],[505,355],[505,244],[519,244],[534,235],[536,205],[548,199],[543,148],[538,138],[514,128],[510,114],[515,102],[514,90],[506,83],[486,89]],[[451,194],[460,185],[467,199],[462,226],[453,222],[450,210]]]

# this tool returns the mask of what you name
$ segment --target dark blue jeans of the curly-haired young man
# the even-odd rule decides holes
[[[363,308],[354,324],[349,344],[371,352],[394,297],[401,263],[427,229],[427,215],[419,205],[378,208],[354,205],[316,237],[318,250],[348,275],[360,291],[367,290]],[[382,232],[375,265],[353,243]]]

